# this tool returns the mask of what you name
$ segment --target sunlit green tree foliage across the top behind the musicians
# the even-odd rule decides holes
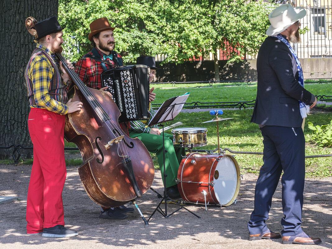
[[[165,62],[182,63],[224,49],[226,41],[238,50],[231,51],[230,61],[257,53],[274,7],[262,0],[59,0],[58,13],[67,26],[65,55],[72,61],[91,49],[89,24],[107,17],[116,27],[116,50],[125,63],[157,54],[164,54]]]

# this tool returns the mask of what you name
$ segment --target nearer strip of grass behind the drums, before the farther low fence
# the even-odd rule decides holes
[[[257,124],[250,123],[252,109],[248,110],[224,110],[222,118],[233,118],[219,122],[219,143],[220,148],[229,148],[233,151],[262,152],[263,138]],[[307,122],[314,124],[326,124],[331,120],[331,114],[312,114],[306,119],[304,133],[311,132],[307,127]],[[199,113],[180,113],[174,122],[181,121],[182,127],[206,127],[207,145],[196,147],[196,149],[213,150],[217,148],[217,129],[216,123],[201,124],[211,120],[213,117],[208,112]],[[171,133],[169,131],[169,133]],[[232,154],[226,151],[226,154]],[[312,144],[306,144],[306,155],[332,154],[331,148],[318,148]],[[251,172],[258,174],[263,164],[262,155],[234,154],[241,173]],[[307,177],[328,177],[332,176],[331,157],[307,158],[305,160]]]

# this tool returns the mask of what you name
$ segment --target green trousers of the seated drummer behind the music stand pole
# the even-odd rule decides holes
[[[161,171],[161,177],[164,182],[163,133],[155,135],[129,130],[129,136],[132,138],[138,137],[148,151],[156,153]],[[165,133],[164,139],[165,150],[167,150],[165,153],[165,173],[167,177],[164,185],[168,188],[176,185],[175,179],[178,177],[179,165],[182,160],[182,155],[186,155],[186,151],[184,147],[173,146],[173,136],[171,134]]]

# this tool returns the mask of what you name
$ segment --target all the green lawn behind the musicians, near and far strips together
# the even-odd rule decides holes
[[[200,87],[200,88],[185,88],[180,85],[176,85],[177,88],[165,89],[165,85],[152,85],[156,89],[154,92],[157,94],[156,103],[162,103],[163,101],[173,96],[181,95],[186,92],[190,92],[190,96],[187,102],[230,102],[230,101],[250,101],[256,98],[257,85],[242,85],[242,86],[213,86],[213,87]],[[192,85],[189,85],[192,86]],[[332,96],[331,84],[306,84],[305,88],[315,95],[327,95]],[[318,107],[317,107],[318,109]],[[314,125],[329,124],[332,118],[332,107],[321,105],[319,107],[321,112],[309,114],[306,118],[306,125],[304,134],[311,133],[311,130],[307,126],[307,122],[312,122]],[[229,148],[233,151],[249,151],[249,152],[262,152],[263,143],[262,136],[257,124],[250,123],[252,109],[242,110],[226,110],[224,114],[219,116],[222,118],[233,118],[219,122],[219,142],[222,149]],[[326,112],[326,113],[324,113]],[[207,145],[203,147],[196,147],[195,149],[213,150],[217,148],[217,130],[216,123],[202,122],[213,119],[213,116],[208,112],[198,113],[180,113],[174,121],[165,123],[165,126],[174,124],[177,121],[183,123],[178,127],[206,127],[207,128]],[[171,130],[166,131],[170,134]],[[73,143],[65,142],[65,147],[76,147]],[[77,153],[75,150],[66,151],[66,153]],[[231,154],[230,152],[226,152]],[[315,144],[306,144],[305,154],[309,155],[324,155],[332,154],[331,148],[319,148]],[[234,153],[241,173],[256,173],[262,165],[262,155],[251,154],[237,154]],[[155,168],[158,168],[156,156],[151,154]],[[307,158],[305,160],[306,177],[331,177],[332,166],[331,157],[321,158]],[[4,160],[2,163],[10,163],[12,161]],[[32,160],[25,160],[21,163],[31,164]],[[74,167],[79,166],[82,163],[80,159],[66,160],[67,165]]]

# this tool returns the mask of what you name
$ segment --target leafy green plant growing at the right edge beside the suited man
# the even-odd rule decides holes
[[[330,124],[321,126],[314,126],[311,122],[308,122],[308,128],[312,130],[312,133],[306,135],[307,142],[316,143],[319,147],[332,146],[332,120]]]

